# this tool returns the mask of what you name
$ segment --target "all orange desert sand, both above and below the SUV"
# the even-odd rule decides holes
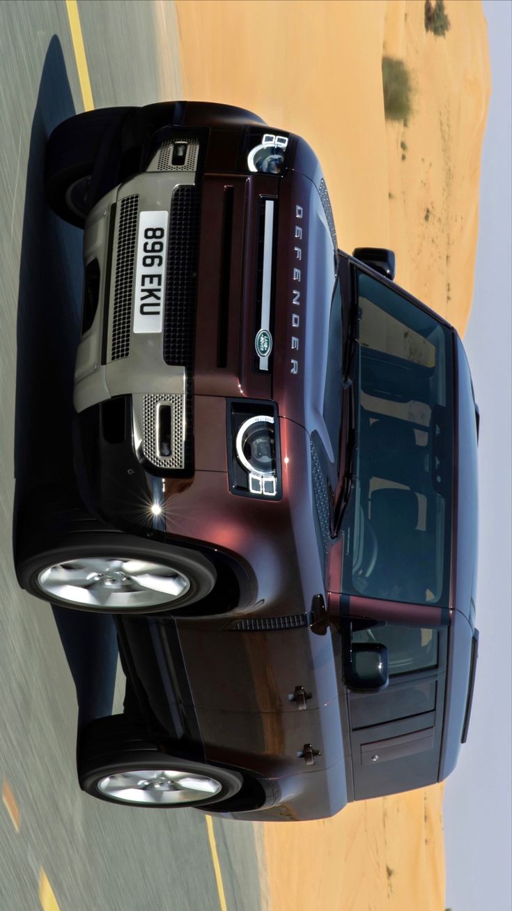
[[[396,280],[463,333],[490,67],[479,0],[445,7],[451,28],[435,38],[418,0],[177,0],[184,97],[249,107],[307,138],[342,249],[392,247]],[[411,73],[406,126],[384,118],[383,54]],[[442,911],[442,794],[434,785],[330,820],[257,825],[267,908]]]

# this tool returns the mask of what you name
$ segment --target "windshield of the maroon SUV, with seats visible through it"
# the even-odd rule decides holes
[[[448,603],[452,496],[451,334],[358,273],[358,447],[343,517],[343,590]]]

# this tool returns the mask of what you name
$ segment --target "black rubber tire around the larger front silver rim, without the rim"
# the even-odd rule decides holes
[[[94,580],[98,582],[97,596],[94,593],[91,595],[90,583],[84,584],[82,587],[78,584],[74,586],[73,597],[69,597],[69,594],[68,597],[59,596],[58,591],[64,590],[62,587],[65,583],[60,582],[56,589],[52,589],[52,574],[50,572],[46,575],[49,568],[55,568],[53,577],[55,579],[58,578],[59,573],[61,576],[66,575],[67,572],[71,573],[71,571],[78,573],[78,568],[72,569],[69,562],[76,561],[79,565],[80,561],[85,559],[96,559],[98,567],[102,565],[100,561],[105,560],[119,561],[120,565],[114,566],[110,570],[89,568],[91,574],[93,572],[99,574],[99,579]],[[176,581],[178,588],[183,586],[183,593],[166,599],[165,592],[163,592],[163,599],[160,599],[162,589],[149,586],[140,595],[138,595],[137,589],[134,589],[136,594],[131,599],[132,606],[123,603],[123,601],[128,601],[127,595],[131,589],[127,580],[131,577],[128,568],[124,568],[123,571],[122,564],[123,561],[131,563],[136,560],[157,564],[164,570],[162,578],[167,579],[164,584],[168,585],[169,579],[172,580],[172,584]],[[68,566],[63,574],[61,569],[62,564],[65,563]],[[57,567],[61,569],[57,570]],[[108,530],[64,533],[60,537],[56,535],[54,541],[40,550],[36,549],[36,552],[32,552],[30,556],[22,558],[16,566],[16,571],[22,588],[36,595],[36,598],[70,609],[87,610],[94,613],[131,614],[132,616],[174,610],[194,604],[210,593],[217,578],[217,573],[210,560],[196,551],[189,550],[189,548],[171,547],[157,541],[148,541],[146,538]],[[159,574],[156,571],[152,575],[146,573],[144,576],[144,578],[151,579],[153,577],[157,582],[159,581]],[[185,579],[185,582],[182,582],[181,577]],[[100,589],[105,589],[105,585],[111,588],[105,594],[108,603],[101,606],[95,603],[95,599],[99,597]],[[67,583],[66,591],[70,587],[71,581]],[[157,594],[154,594],[155,591]],[[86,594],[82,595],[82,592],[86,592]],[[148,599],[151,600],[151,603],[144,603],[144,600],[148,601]]]

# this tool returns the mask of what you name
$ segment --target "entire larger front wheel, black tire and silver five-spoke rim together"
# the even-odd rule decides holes
[[[120,532],[68,535],[17,567],[24,589],[63,607],[111,614],[178,609],[210,594],[210,560]]]

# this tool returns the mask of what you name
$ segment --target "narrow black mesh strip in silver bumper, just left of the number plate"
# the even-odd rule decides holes
[[[131,298],[137,239],[138,195],[121,200],[116,280],[114,284],[114,315],[112,320],[112,350],[110,360],[128,357],[131,328]]]

